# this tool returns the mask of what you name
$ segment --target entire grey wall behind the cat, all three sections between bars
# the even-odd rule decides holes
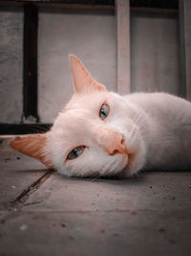
[[[131,12],[131,91],[180,95],[178,18]],[[0,122],[22,115],[23,13],[0,12]],[[69,54],[97,81],[117,88],[117,24],[112,14],[39,10],[38,111],[52,123],[73,94]]]

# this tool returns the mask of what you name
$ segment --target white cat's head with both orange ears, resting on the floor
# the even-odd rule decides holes
[[[144,164],[134,106],[108,92],[70,57],[74,95],[47,133],[16,137],[11,147],[63,175],[133,174]]]

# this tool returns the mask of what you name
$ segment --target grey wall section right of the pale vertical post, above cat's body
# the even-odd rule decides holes
[[[178,19],[131,15],[131,90],[180,94]]]

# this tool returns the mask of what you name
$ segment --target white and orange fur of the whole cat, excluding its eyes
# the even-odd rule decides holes
[[[11,147],[63,175],[133,175],[191,168],[191,103],[167,93],[120,96],[70,57],[74,96],[44,134],[16,137]],[[109,105],[105,120],[102,104]],[[85,150],[67,159],[78,146]]]

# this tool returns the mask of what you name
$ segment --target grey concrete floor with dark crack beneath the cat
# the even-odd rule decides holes
[[[0,139],[0,255],[191,255],[191,172],[57,175]]]

